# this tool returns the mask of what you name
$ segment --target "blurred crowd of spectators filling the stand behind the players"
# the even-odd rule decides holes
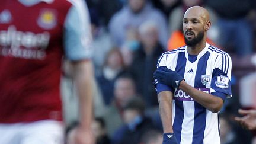
[[[162,143],[153,72],[158,57],[184,46],[187,8],[210,12],[207,42],[231,55],[232,94],[220,111],[223,144],[256,143],[234,121],[239,108],[256,108],[256,2],[254,0],[86,0],[94,38],[95,84],[92,125],[97,144]],[[62,95],[67,133],[75,126],[77,98],[69,62]],[[254,141],[254,142],[253,142]]]

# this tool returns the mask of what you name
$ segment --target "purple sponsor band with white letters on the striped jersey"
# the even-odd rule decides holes
[[[207,94],[210,93],[210,89],[209,88],[196,88],[199,91],[203,91],[206,92]],[[177,89],[174,93],[174,100],[178,100],[178,101],[194,101],[192,97],[190,97],[190,95],[187,95],[183,90],[181,89]]]

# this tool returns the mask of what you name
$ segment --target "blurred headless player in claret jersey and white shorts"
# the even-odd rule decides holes
[[[1,1],[0,143],[63,143],[63,55],[72,61],[79,95],[74,143],[94,143],[90,43],[82,0]]]

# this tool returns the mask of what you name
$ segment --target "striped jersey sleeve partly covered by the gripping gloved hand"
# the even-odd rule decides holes
[[[156,68],[161,70],[161,68],[163,68],[161,66],[164,66],[164,67],[167,66],[166,59],[165,59],[165,53],[163,53],[162,56],[159,57]],[[172,93],[174,92],[173,88],[169,87],[168,85],[161,84],[160,82],[157,81],[157,79],[155,79],[154,86],[155,86],[155,89],[158,94],[162,91],[171,91]]]

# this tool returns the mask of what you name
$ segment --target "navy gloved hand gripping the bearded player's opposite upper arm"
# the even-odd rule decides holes
[[[158,69],[156,69],[155,73],[153,73],[153,78],[172,88],[178,88],[181,81],[184,80],[184,78],[181,77],[177,72],[172,71],[165,66],[160,66]]]

